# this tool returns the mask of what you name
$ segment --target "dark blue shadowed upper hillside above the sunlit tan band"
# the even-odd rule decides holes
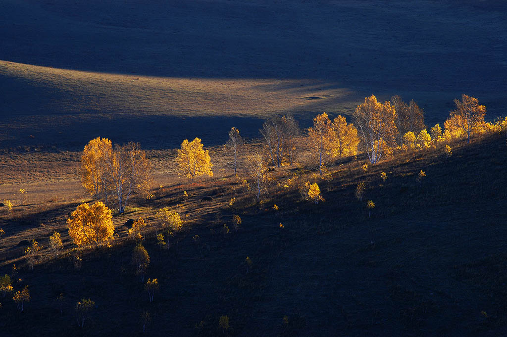
[[[469,3],[5,2],[0,59],[147,76],[319,79],[365,91],[505,92],[505,6]]]

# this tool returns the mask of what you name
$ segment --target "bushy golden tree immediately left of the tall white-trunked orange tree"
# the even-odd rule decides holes
[[[345,117],[338,115],[333,120],[332,127],[334,131],[333,155],[339,157],[355,156],[360,140],[354,125],[347,124]]]

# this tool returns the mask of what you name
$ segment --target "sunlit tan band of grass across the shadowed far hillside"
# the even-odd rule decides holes
[[[0,61],[0,75],[7,91],[13,91],[5,96],[11,117],[127,113],[267,118],[349,110],[350,99],[356,100],[347,88],[318,80],[162,78],[8,61]]]

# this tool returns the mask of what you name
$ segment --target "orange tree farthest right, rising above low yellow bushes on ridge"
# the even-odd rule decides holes
[[[450,113],[450,123],[454,127],[461,129],[468,138],[477,132],[476,128],[484,123],[486,115],[486,106],[479,105],[479,100],[475,97],[461,95],[461,100],[455,99],[456,110]]]

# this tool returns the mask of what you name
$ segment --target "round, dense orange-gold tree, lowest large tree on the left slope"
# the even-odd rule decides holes
[[[67,219],[68,235],[78,246],[108,245],[115,234],[111,209],[97,201],[79,205]]]

